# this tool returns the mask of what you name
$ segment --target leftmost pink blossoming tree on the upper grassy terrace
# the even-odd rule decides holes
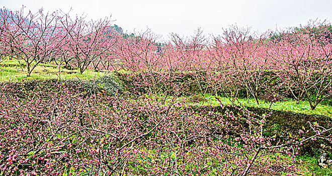
[[[20,11],[2,11],[3,45],[11,58],[22,61],[26,66],[27,76],[46,58],[51,57],[56,48],[60,47],[65,35],[59,35],[62,30],[58,25],[57,14]]]

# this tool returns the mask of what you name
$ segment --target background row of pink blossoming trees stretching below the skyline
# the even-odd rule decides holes
[[[309,101],[311,109],[332,95],[332,34],[325,21],[263,34],[236,26],[212,37],[201,30],[188,38],[172,33],[169,41],[158,43],[150,31],[123,34],[109,18],[88,21],[61,11],[24,9],[5,9],[0,17],[1,58],[18,59],[28,76],[43,62],[81,73],[122,70],[139,73],[156,93],[160,82],[177,78],[174,73],[193,73],[202,94],[214,90],[234,101],[244,87],[259,104],[262,92],[275,99],[287,92]]]

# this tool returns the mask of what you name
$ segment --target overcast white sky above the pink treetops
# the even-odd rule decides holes
[[[268,29],[305,25],[309,19],[332,20],[332,0],[0,0],[0,7],[19,10],[22,5],[36,12],[73,9],[99,19],[112,15],[114,24],[128,33],[150,28],[167,37],[174,32],[189,36],[201,27],[205,34],[221,34],[228,25]]]

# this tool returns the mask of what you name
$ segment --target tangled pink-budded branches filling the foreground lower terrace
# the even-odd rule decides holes
[[[36,89],[47,86],[40,82]],[[278,166],[278,159],[270,158],[275,153],[293,156],[299,150],[294,146],[331,137],[325,135],[331,128],[321,131],[313,124],[312,137],[302,139],[300,133],[282,142],[263,134],[271,113],[258,116],[224,105],[197,111],[181,102],[89,95],[61,82],[52,86],[47,94],[13,89],[28,88],[24,82],[2,90],[5,175],[256,175]],[[296,167],[287,170],[292,173]]]

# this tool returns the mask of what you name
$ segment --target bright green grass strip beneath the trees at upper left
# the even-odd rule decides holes
[[[32,79],[95,79],[105,75],[106,72],[86,70],[80,74],[78,70],[68,70],[62,66],[40,63],[30,76],[27,76],[26,67],[18,60],[5,60],[0,62],[0,81],[20,81]]]

